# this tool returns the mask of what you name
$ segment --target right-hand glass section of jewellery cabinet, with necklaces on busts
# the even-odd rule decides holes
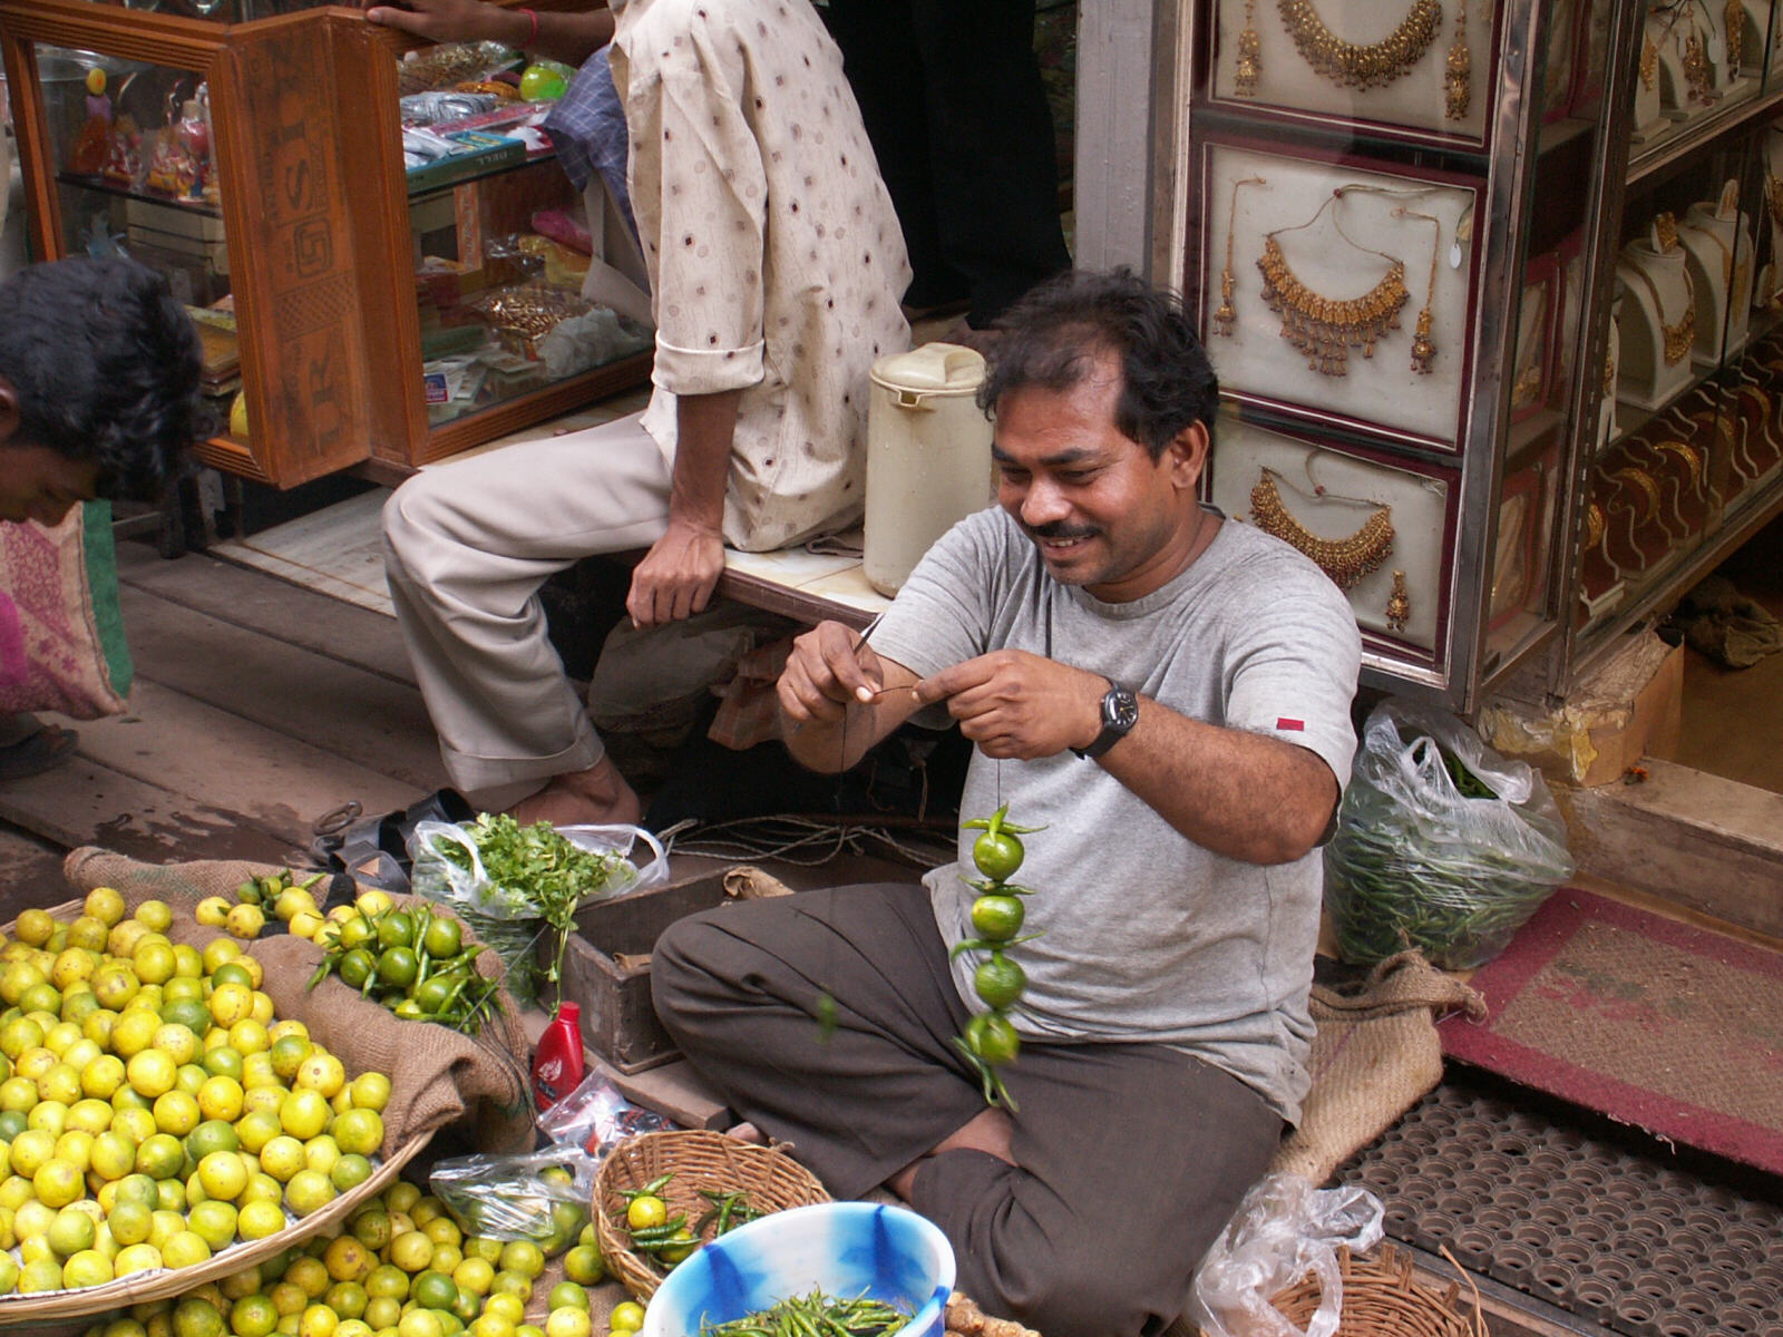
[[[1582,442],[1565,690],[1783,508],[1783,61],[1772,5],[1617,12],[1610,355]]]

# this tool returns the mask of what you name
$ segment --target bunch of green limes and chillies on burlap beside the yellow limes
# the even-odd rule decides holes
[[[323,963],[310,977],[312,989],[339,972],[348,988],[376,998],[405,1021],[439,1021],[474,1036],[501,986],[476,973],[483,948],[465,943],[455,918],[426,906],[351,915],[317,941]]]

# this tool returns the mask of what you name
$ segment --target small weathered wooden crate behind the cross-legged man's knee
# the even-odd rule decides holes
[[[563,997],[581,1007],[583,1043],[622,1073],[678,1057],[651,1007],[649,954],[676,920],[724,904],[722,874],[590,906],[563,954]]]

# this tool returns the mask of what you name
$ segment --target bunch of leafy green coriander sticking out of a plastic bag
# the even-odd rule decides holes
[[[608,893],[615,875],[631,865],[617,850],[597,854],[565,838],[549,822],[522,827],[506,813],[483,813],[464,827],[483,861],[480,909],[506,920],[542,918],[555,936],[546,982],[563,997],[563,954],[576,931],[576,909],[590,897]],[[471,872],[471,856],[440,841],[440,854]]]

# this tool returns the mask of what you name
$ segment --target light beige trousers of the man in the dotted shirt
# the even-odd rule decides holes
[[[640,415],[423,469],[383,506],[383,565],[460,790],[587,770],[604,749],[546,635],[538,586],[649,547],[669,462]]]

